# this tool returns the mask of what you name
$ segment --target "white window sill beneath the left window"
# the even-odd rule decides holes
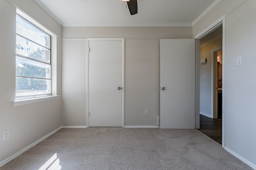
[[[32,98],[32,99],[24,99],[24,100],[16,100],[12,101],[12,105],[15,106],[22,106],[26,104],[32,104],[32,103],[37,103],[37,102],[44,102],[48,100],[54,100],[58,99],[59,96],[47,96],[47,97],[42,97],[42,98]]]

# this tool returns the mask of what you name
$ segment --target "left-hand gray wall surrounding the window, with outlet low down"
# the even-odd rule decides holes
[[[56,35],[62,27],[31,0],[12,0],[15,6]],[[16,8],[0,0],[0,162],[61,126],[61,99],[12,106],[15,99]],[[56,94],[61,95],[62,40],[57,38]],[[2,141],[2,132],[9,139]]]

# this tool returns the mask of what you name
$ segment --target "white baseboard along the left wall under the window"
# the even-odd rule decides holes
[[[3,166],[4,164],[6,164],[7,162],[9,162],[10,160],[16,158],[17,156],[19,156],[20,154],[22,154],[23,152],[25,152],[26,150],[34,147],[36,144],[38,144],[39,142],[43,141],[44,139],[46,139],[47,137],[49,137],[50,135],[54,134],[56,131],[60,130],[62,127],[59,127],[57,129],[55,129],[54,131],[48,133],[47,135],[45,135],[44,137],[38,139],[37,141],[35,141],[34,143],[28,145],[27,147],[25,147],[24,149],[20,150],[19,152],[13,154],[12,156],[6,158],[5,160],[0,162],[0,167]]]

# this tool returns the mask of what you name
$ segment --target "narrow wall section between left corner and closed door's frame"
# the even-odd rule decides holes
[[[86,40],[66,40],[62,57],[62,125],[86,125]]]

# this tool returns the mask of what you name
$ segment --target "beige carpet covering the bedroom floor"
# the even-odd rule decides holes
[[[198,130],[60,129],[0,170],[250,170]]]

